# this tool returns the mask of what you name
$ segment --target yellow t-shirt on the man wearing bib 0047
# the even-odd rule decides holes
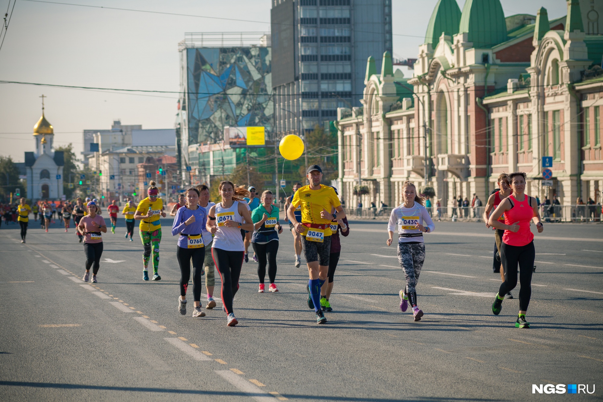
[[[292,205],[297,207],[301,206],[301,222],[302,223],[318,223],[326,224],[327,228],[324,229],[324,235],[330,236],[330,219],[324,219],[320,217],[320,212],[326,209],[327,212],[331,212],[331,207],[338,207],[341,205],[335,190],[332,187],[324,184],[320,185],[320,190],[310,190],[310,186],[304,186],[299,190],[295,191],[293,196]],[[307,229],[302,233],[305,235]]]

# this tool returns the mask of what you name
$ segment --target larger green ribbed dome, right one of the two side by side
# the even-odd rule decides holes
[[[505,13],[499,0],[467,0],[459,33],[468,33],[474,48],[490,48],[507,40]]]

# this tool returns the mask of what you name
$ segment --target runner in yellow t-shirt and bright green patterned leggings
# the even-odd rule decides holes
[[[151,257],[151,248],[153,249],[153,281],[160,281],[159,276],[159,243],[161,242],[161,222],[160,217],[164,217],[163,200],[157,198],[159,189],[155,187],[155,182],[149,182],[150,187],[147,190],[148,197],[140,201],[134,214],[134,219],[140,220],[139,232],[142,246],[145,249],[142,255],[142,280],[148,281],[148,264]]]

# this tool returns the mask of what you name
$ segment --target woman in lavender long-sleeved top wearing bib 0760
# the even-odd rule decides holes
[[[180,265],[180,297],[178,298],[178,311],[186,315],[186,289],[191,279],[192,259],[192,294],[194,297],[195,311],[193,317],[204,317],[201,308],[201,276],[203,276],[203,261],[205,260],[205,247],[203,243],[203,228],[207,223],[205,208],[198,205],[199,191],[189,188],[185,193],[186,205],[176,211],[172,236],[180,235],[176,247],[176,258]]]

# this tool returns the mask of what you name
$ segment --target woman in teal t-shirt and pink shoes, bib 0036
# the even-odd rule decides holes
[[[276,288],[274,278],[276,278],[276,253],[279,251],[279,234],[283,232],[283,227],[279,224],[279,208],[272,205],[274,200],[272,191],[264,191],[261,200],[262,203],[251,212],[251,220],[254,223],[251,246],[257,256],[257,277],[260,280],[257,292],[264,293],[267,262],[268,279],[270,279],[268,292],[278,292],[279,289]],[[276,230],[274,230],[275,228]]]

